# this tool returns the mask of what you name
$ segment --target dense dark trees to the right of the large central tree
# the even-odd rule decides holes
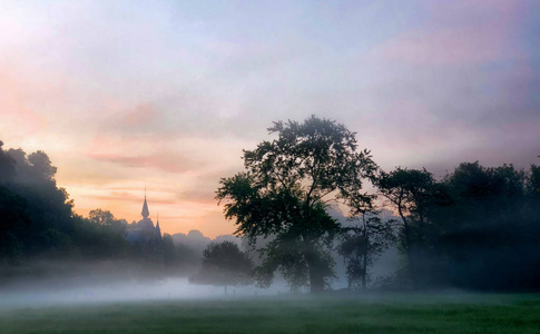
[[[401,245],[415,287],[540,289],[537,166],[463,163],[436,181],[397,168],[377,186],[402,219]]]

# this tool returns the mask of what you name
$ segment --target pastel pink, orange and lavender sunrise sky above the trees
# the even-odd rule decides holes
[[[0,140],[75,210],[234,232],[215,190],[276,120],[330,118],[383,169],[540,164],[540,2],[3,1]]]

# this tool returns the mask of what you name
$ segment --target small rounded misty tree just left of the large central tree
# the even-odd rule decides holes
[[[247,285],[252,283],[253,264],[235,243],[212,243],[203,253],[200,271],[189,281],[195,284],[223,285],[225,294],[227,286]]]

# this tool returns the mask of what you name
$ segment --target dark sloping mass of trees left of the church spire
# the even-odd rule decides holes
[[[126,256],[126,222],[95,209],[72,212],[57,186],[57,168],[43,151],[2,149],[0,141],[0,265],[32,259],[96,259]]]

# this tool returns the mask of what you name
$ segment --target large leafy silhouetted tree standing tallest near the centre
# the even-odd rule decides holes
[[[259,248],[262,285],[281,271],[294,286],[308,281],[312,292],[324,288],[332,275],[330,246],[340,225],[325,210],[331,202],[357,200],[362,179],[376,168],[369,151],[357,150],[355,134],[328,119],[277,121],[272,141],[244,150],[246,171],[223,178],[217,199],[225,216]]]

